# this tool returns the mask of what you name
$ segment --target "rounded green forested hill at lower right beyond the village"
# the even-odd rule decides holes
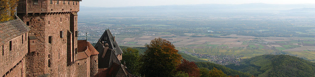
[[[261,55],[226,67],[258,77],[314,77],[315,63],[289,55]]]

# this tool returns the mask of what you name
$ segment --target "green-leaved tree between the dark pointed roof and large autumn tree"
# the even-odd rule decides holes
[[[140,56],[139,51],[132,48],[123,50],[123,59],[121,62],[126,63],[126,67],[129,68],[132,74],[139,75]]]

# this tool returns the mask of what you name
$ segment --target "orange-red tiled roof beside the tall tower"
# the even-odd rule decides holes
[[[86,40],[78,40],[78,60],[85,59],[90,57],[91,55],[97,55],[99,52]]]

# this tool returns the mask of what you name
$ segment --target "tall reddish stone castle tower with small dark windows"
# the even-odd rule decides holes
[[[17,16],[31,29],[26,77],[75,77],[80,0],[20,0]],[[33,42],[34,41],[34,42]]]

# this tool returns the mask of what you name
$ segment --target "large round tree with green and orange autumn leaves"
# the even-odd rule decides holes
[[[182,59],[171,42],[154,38],[141,59],[140,74],[147,77],[171,77]]]

